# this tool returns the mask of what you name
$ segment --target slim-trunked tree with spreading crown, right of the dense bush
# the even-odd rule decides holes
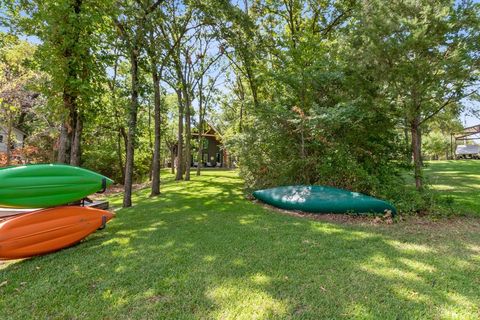
[[[365,5],[356,38],[410,132],[415,185],[423,188],[422,129],[478,91],[480,5],[394,1]]]

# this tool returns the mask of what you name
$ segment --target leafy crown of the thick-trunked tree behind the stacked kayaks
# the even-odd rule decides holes
[[[40,40],[36,58],[49,75],[48,85],[43,86],[49,103],[60,106],[65,91],[78,96],[83,108],[94,105],[104,72],[98,52],[104,6],[95,1],[47,0],[12,2],[9,8],[15,21],[10,27]]]

